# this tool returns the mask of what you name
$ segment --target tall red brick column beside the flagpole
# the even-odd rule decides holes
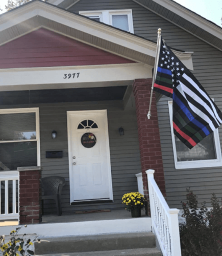
[[[147,199],[149,196],[147,176],[145,173],[147,169],[155,170],[154,178],[163,196],[166,197],[155,92],[153,93],[151,119],[149,120],[147,118],[151,87],[152,79],[136,79],[133,84],[133,93],[136,101],[143,190]]]

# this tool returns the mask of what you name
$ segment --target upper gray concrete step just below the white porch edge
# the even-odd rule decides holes
[[[156,247],[152,232],[104,234],[97,236],[60,237],[35,243],[35,254],[94,252]]]

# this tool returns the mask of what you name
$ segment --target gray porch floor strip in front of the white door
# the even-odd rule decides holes
[[[141,217],[147,217],[145,210],[141,210]],[[148,218],[148,217],[147,217]],[[57,215],[43,215],[42,223],[67,223],[67,222],[81,222],[81,221],[102,221],[102,220],[123,220],[132,219],[131,212],[121,210],[111,210],[109,212],[93,212],[84,214],[62,214]]]

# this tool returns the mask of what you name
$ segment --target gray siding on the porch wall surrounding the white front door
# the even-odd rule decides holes
[[[141,172],[137,119],[135,109],[124,111],[122,101],[73,102],[39,105],[16,105],[10,108],[39,107],[40,149],[42,177],[62,176],[66,185],[62,190],[63,212],[92,209],[119,209],[122,195],[138,191],[135,174]],[[9,108],[1,106],[1,108]],[[110,158],[114,202],[71,205],[69,201],[69,165],[67,141],[67,111],[107,109],[110,143]],[[119,136],[119,127],[124,127],[125,135]],[[52,139],[52,131],[57,138]],[[63,158],[45,158],[45,151],[63,151]],[[56,212],[54,201],[44,204],[45,214]]]

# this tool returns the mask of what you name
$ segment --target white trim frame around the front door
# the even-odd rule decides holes
[[[105,119],[105,137],[106,137],[106,150],[107,150],[107,169],[108,169],[108,183],[109,183],[109,200],[113,201],[113,189],[112,189],[112,175],[111,175],[111,162],[110,162],[110,146],[109,146],[109,133],[108,133],[108,118],[107,118],[107,110],[87,110],[87,111],[67,111],[67,132],[68,132],[68,161],[69,161],[69,182],[72,181],[73,172],[72,172],[72,143],[71,143],[71,116],[77,113],[82,114],[95,114],[95,113],[103,113]],[[73,187],[70,185],[70,198]],[[106,199],[107,200],[107,199]],[[70,200],[71,201],[71,200]],[[87,200],[84,200],[84,202]],[[90,200],[94,201],[94,200]],[[103,201],[103,199],[98,199],[96,201]],[[80,202],[78,200],[78,202]],[[71,204],[71,202],[70,202]]]

